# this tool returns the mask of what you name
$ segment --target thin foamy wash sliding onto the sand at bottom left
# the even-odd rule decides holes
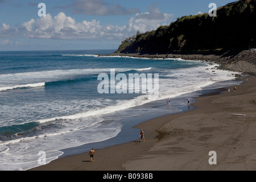
[[[34,138],[22,138],[18,142],[5,143],[5,149],[0,153],[0,170],[27,170],[40,166],[39,151],[46,152],[46,163],[59,158],[63,154],[60,150],[67,147],[76,147],[91,142],[101,142],[115,137],[121,131],[121,125],[115,127],[94,126],[81,131],[64,133],[62,135],[47,135]],[[97,129],[96,129],[97,128]],[[97,132],[95,132],[97,131]],[[26,147],[29,146],[29,147]]]

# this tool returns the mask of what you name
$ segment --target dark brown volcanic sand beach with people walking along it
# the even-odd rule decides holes
[[[196,109],[166,115],[134,126],[145,140],[71,155],[30,170],[51,171],[181,171],[256,169],[256,77],[220,94],[197,97]],[[235,86],[235,85],[234,85]],[[245,114],[245,115],[231,115]],[[210,165],[210,151],[217,164]]]

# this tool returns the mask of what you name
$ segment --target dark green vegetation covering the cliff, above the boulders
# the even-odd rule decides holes
[[[169,26],[137,34],[117,53],[224,53],[242,51],[256,42],[256,0],[240,0],[208,13],[177,18]]]

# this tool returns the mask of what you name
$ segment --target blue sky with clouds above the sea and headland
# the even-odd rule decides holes
[[[0,0],[0,51],[117,49],[138,30],[156,30],[181,16],[208,13],[210,3],[234,1]]]

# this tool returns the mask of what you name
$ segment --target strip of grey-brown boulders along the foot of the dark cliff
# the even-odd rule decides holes
[[[109,55],[99,55],[99,56],[129,56],[129,57],[139,57],[139,58],[149,58],[149,59],[184,59],[184,60],[200,60],[207,61],[210,63],[219,64],[218,69],[224,69],[229,71],[241,72],[246,75],[256,74],[256,52],[252,51],[242,51],[237,55],[183,55],[183,54],[139,54],[139,53],[110,53]]]

